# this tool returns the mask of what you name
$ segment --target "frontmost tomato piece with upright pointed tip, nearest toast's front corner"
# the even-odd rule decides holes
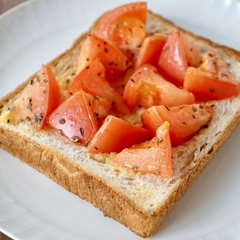
[[[173,176],[172,146],[169,123],[165,122],[156,130],[156,137],[116,154],[113,161],[136,172],[154,173],[162,177]]]

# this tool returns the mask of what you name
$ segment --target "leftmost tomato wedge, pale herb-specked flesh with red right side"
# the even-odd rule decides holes
[[[48,66],[42,65],[37,77],[30,80],[12,110],[18,119],[27,120],[42,129],[46,126],[46,117],[59,105],[60,100],[60,88],[53,73]]]

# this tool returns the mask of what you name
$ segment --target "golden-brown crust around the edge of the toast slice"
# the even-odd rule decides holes
[[[166,31],[168,31],[169,27],[176,27],[172,22],[151,12],[149,12],[148,18],[154,18],[156,21],[162,21],[163,24],[166,24]],[[80,36],[73,43],[72,47],[48,63],[48,66],[52,69],[55,75],[67,71],[68,69],[72,71],[76,68],[76,66],[72,65],[67,65],[63,68],[63,66],[59,63],[64,62],[65,58],[73,59],[77,57],[81,44],[87,35],[94,29],[95,23],[89,32]],[[234,56],[239,59],[239,52],[213,43],[206,38],[196,36],[193,33],[185,31],[181,28],[179,29],[189,36],[196,38],[198,41],[202,41],[204,44],[218,49],[223,49],[223,51],[230,56]],[[28,81],[35,76],[36,74],[32,75],[13,92],[0,99],[0,108],[4,106],[6,101],[13,98],[18,92],[20,92],[26,86]],[[162,221],[168,212],[202,172],[218,149],[238,126],[239,122],[240,113],[238,111],[228,128],[226,128],[222,135],[218,137],[217,141],[212,146],[211,151],[209,151],[207,155],[201,157],[201,159],[198,160],[198,164],[196,164],[190,172],[185,174],[185,176],[181,179],[181,183],[175,188],[173,194],[166,199],[165,204],[160,206],[153,215],[148,215],[146,212],[141,211],[141,209],[130,201],[127,196],[116,191],[112,186],[103,182],[99,177],[85,171],[75,162],[70,159],[66,159],[57,151],[47,149],[45,146],[42,146],[29,138],[21,136],[14,131],[9,131],[7,128],[4,128],[4,126],[0,126],[0,147],[47,175],[68,191],[91,202],[94,206],[99,208],[104,215],[117,220],[136,234],[142,237],[148,237],[152,235],[153,232],[162,224]],[[15,139],[18,139],[18,142],[16,142]]]

